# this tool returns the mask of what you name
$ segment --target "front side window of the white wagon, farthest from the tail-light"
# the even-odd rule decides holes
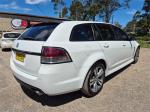
[[[127,34],[125,32],[123,32],[121,29],[119,29],[117,27],[114,27],[114,26],[113,26],[113,29],[114,29],[114,32],[115,32],[115,35],[116,35],[116,40],[120,40],[120,41],[129,40]]]

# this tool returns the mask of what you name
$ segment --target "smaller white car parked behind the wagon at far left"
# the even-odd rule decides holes
[[[12,47],[13,41],[20,36],[17,32],[5,32],[2,34],[1,38],[1,49],[8,49]]]

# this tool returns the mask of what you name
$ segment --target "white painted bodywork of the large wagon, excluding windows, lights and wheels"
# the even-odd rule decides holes
[[[14,76],[48,95],[57,95],[81,89],[89,69],[98,60],[105,61],[106,76],[133,62],[135,50],[139,46],[136,41],[69,41],[72,28],[83,23],[95,22],[63,22],[46,42],[16,40],[13,48],[22,51],[41,53],[42,46],[64,48],[72,62],[41,64],[40,56],[26,54],[25,62],[22,63],[15,59],[15,53],[12,52],[10,66]],[[109,48],[105,48],[106,45]]]

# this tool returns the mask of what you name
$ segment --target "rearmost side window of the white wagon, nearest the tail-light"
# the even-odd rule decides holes
[[[93,41],[93,31],[90,24],[81,24],[73,28],[70,41]]]

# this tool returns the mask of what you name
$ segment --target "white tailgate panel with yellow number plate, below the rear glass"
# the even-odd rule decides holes
[[[37,76],[41,64],[40,54],[43,44],[44,41],[15,41],[12,50],[15,66],[29,75]]]

